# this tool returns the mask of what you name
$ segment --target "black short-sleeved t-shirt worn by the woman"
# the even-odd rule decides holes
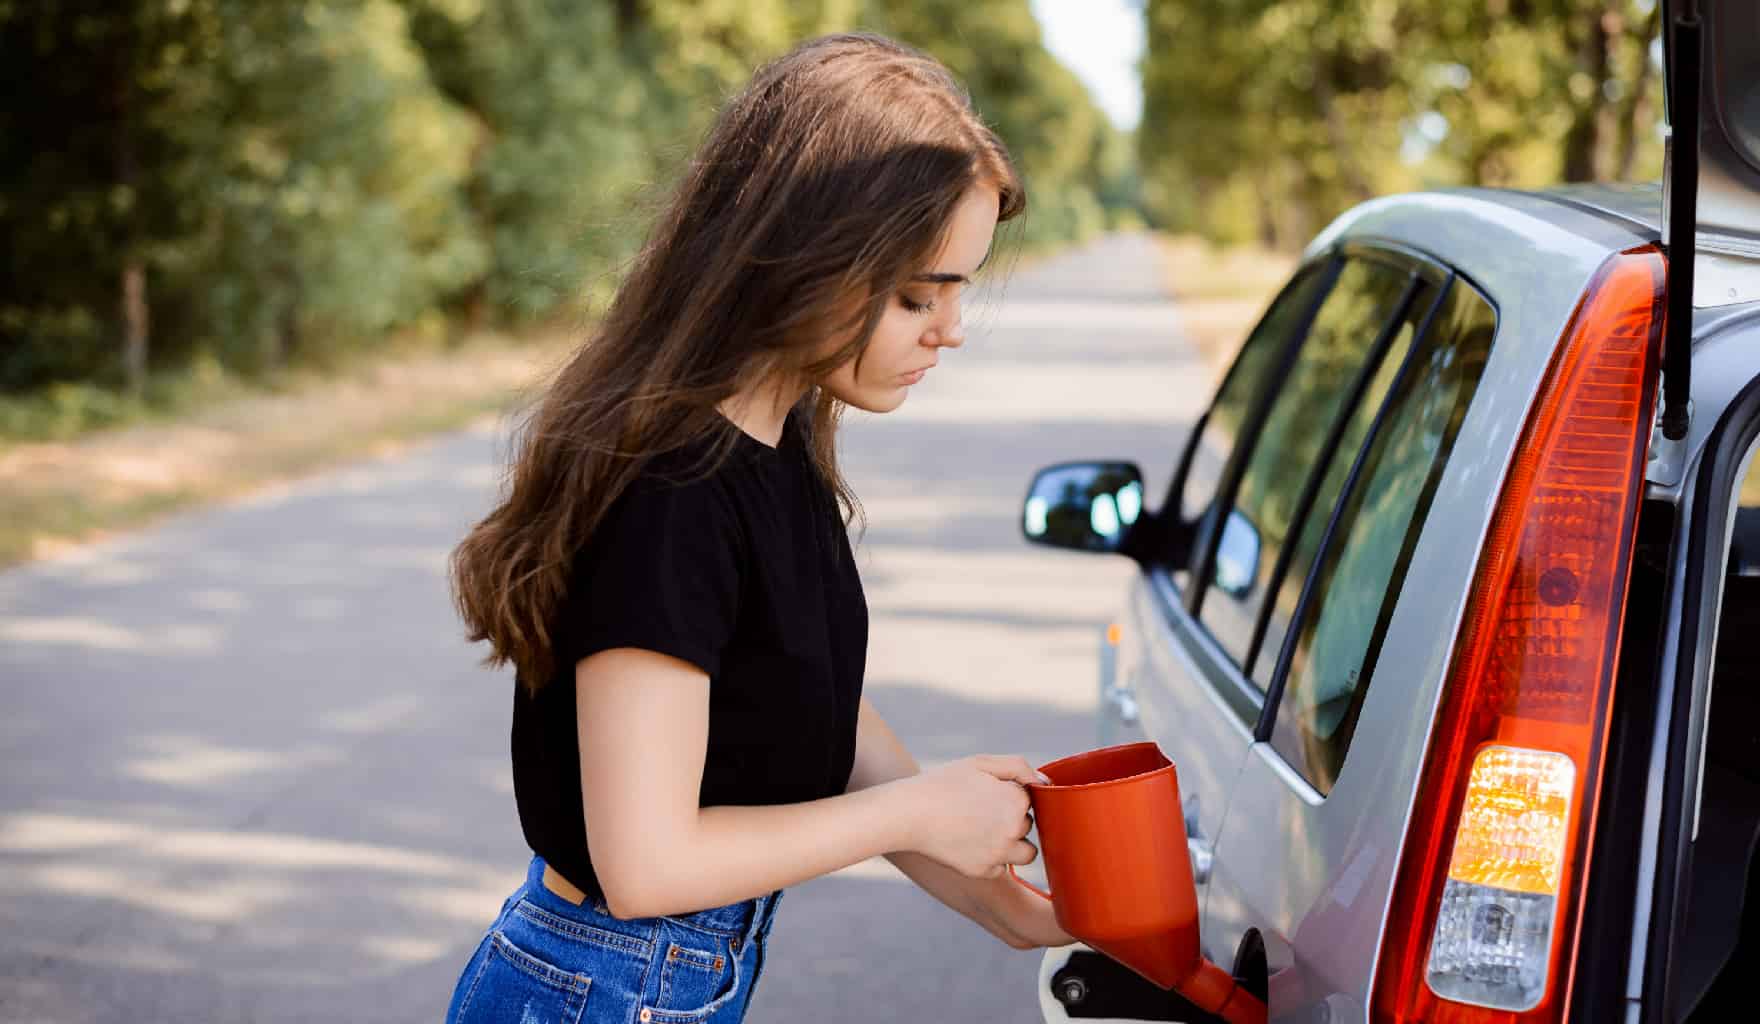
[[[744,433],[653,459],[572,568],[551,635],[558,670],[514,686],[514,799],[526,843],[602,897],[581,811],[574,667],[644,647],[709,676],[699,806],[796,804],[845,792],[868,653],[868,602],[799,413],[773,449]]]

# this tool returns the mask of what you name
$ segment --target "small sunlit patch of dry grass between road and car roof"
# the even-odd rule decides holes
[[[1218,248],[1192,236],[1156,241],[1179,322],[1220,371],[1295,269],[1295,257],[1258,246]]]

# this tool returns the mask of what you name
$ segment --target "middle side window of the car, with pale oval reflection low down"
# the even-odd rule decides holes
[[[1272,567],[1294,526],[1297,496],[1324,456],[1320,449],[1352,382],[1410,283],[1412,271],[1404,267],[1369,259],[1346,262],[1271,403],[1234,507],[1221,519],[1211,586],[1199,609],[1199,621],[1243,669]]]

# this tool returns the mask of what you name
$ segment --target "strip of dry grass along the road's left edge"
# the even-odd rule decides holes
[[[0,565],[507,410],[568,341],[484,336],[444,354],[297,377],[278,394],[171,424],[0,447]]]

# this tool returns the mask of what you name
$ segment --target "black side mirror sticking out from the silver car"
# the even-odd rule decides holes
[[[1031,544],[1112,552],[1142,516],[1142,470],[1135,463],[1060,463],[1033,477],[1021,510]]]

